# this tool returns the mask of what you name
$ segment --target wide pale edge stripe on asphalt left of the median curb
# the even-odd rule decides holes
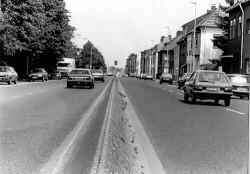
[[[84,113],[76,127],[66,136],[59,148],[52,154],[49,161],[41,168],[39,174],[57,174],[67,162],[67,158],[70,156],[69,152],[71,147],[74,146],[75,140],[79,136],[81,130],[87,123],[88,119],[95,112],[96,107],[104,99],[105,93],[108,90],[113,79],[111,79],[105,86],[104,90],[98,96],[98,98],[91,104],[91,107]]]

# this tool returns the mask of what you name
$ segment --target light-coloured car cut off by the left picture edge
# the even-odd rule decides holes
[[[11,66],[0,66],[0,82],[7,82],[9,85],[11,82],[17,83],[18,75],[15,69]]]

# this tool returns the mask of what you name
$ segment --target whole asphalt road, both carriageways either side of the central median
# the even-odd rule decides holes
[[[54,173],[90,173],[112,86],[106,79],[94,89],[67,89],[65,80],[0,84],[0,173],[52,174],[59,163]],[[248,100],[184,103],[176,85],[118,79],[166,173],[246,173]],[[89,108],[95,112],[87,117]],[[79,136],[70,139],[72,132]]]

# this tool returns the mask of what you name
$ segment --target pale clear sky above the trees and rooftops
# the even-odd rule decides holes
[[[195,0],[193,0],[194,2]],[[65,0],[70,24],[76,28],[72,41],[82,48],[91,41],[105,63],[125,67],[126,59],[160,42],[161,36],[176,31],[195,18],[192,0]],[[196,16],[225,5],[225,0],[196,0]]]

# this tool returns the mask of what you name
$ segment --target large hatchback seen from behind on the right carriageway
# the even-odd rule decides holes
[[[225,106],[229,106],[232,89],[232,84],[224,72],[197,70],[184,85],[184,101],[187,102],[189,97],[192,103],[195,103],[196,99],[213,99],[215,104],[218,104],[222,99]]]

